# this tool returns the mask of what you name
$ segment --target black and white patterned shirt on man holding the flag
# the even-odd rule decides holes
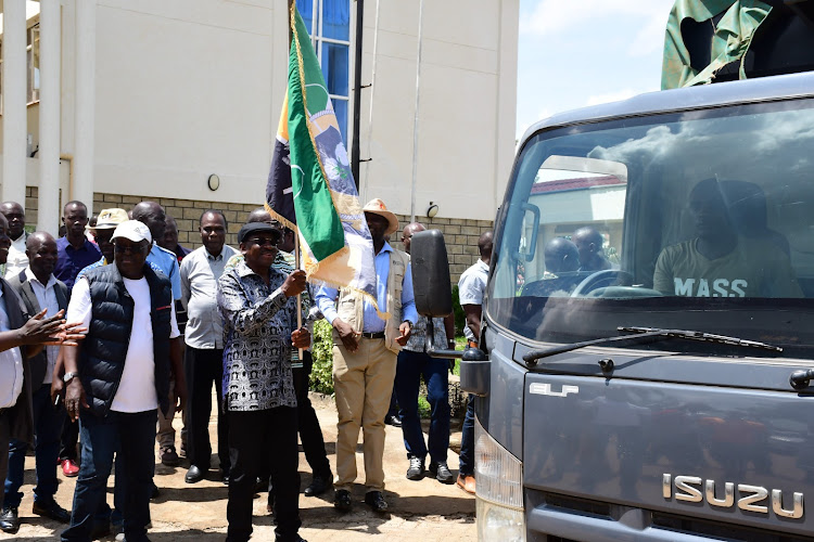
[[[296,297],[280,289],[287,275],[271,268],[269,284],[244,261],[218,281],[224,318],[225,409],[296,406],[291,374],[291,332],[296,330]]]

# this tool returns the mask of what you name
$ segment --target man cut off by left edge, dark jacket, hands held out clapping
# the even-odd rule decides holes
[[[0,263],[5,263],[11,240],[9,222],[0,212]],[[9,441],[14,438],[34,441],[31,406],[31,370],[24,358],[39,353],[42,345],[71,338],[71,326],[65,326],[62,312],[43,318],[46,311],[28,319],[25,307],[12,287],[0,278],[0,479],[5,480]],[[61,339],[58,337],[62,334]],[[41,382],[41,380],[40,380]],[[54,463],[55,464],[55,463]],[[9,514],[7,514],[9,512]],[[16,511],[3,509],[0,529],[16,532],[20,522]]]

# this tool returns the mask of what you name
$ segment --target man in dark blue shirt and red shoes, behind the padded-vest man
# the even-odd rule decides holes
[[[85,236],[88,225],[88,207],[81,202],[68,202],[62,208],[62,222],[65,225],[65,236],[56,240],[56,267],[53,275],[65,283],[67,291],[74,288],[74,282],[79,271],[97,262],[102,253],[99,247]],[[60,448],[60,465],[65,476],[79,474],[76,463],[76,443],[79,440],[79,426],[66,421],[62,427],[62,442]]]

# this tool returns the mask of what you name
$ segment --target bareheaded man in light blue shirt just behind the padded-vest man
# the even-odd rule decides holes
[[[148,263],[153,263],[161,269],[169,279],[173,285],[173,299],[181,298],[181,273],[178,268],[178,257],[175,253],[158,246],[156,240],[164,238],[164,231],[167,228],[167,216],[164,207],[155,202],[141,202],[132,208],[132,219],[142,222],[150,230],[153,236],[153,245],[150,254],[147,256]],[[170,348],[178,350],[178,359],[181,359],[181,338],[177,337],[170,340]],[[175,369],[175,367],[174,367]],[[178,400],[180,405],[176,409]],[[158,411],[158,431],[155,435],[161,447],[161,462],[164,465],[178,466],[178,453],[175,451],[175,429],[173,428],[173,418],[176,410],[182,410],[187,400],[187,385],[183,377],[183,371],[173,371],[173,378],[169,383],[169,411],[166,415]]]

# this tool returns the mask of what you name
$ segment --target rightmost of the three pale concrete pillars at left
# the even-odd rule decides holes
[[[76,140],[69,198],[87,205],[88,215],[93,210],[96,70],[97,0],[76,0]]]

